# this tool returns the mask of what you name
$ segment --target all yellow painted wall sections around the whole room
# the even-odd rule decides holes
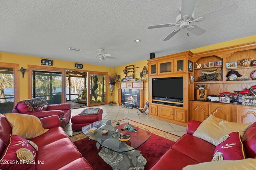
[[[209,51],[209,50],[214,50],[214,49],[220,49],[223,47],[230,47],[230,46],[234,46],[234,45],[239,45],[239,44],[244,44],[244,43],[250,43],[250,42],[255,42],[256,41],[256,35],[252,35],[249,37],[244,37],[244,38],[240,38],[240,39],[234,39],[231,41],[226,41],[226,42],[222,42],[222,43],[217,43],[214,45],[208,45],[205,47],[200,47],[200,48],[196,48],[196,49],[191,49],[190,51],[192,53],[200,53],[200,52],[204,52],[204,51]],[[18,55],[18,54],[12,54],[12,53],[1,53],[0,52],[0,62],[3,63],[18,63],[20,64],[19,67],[23,67],[23,68],[27,68],[27,65],[36,65],[36,66],[41,66],[41,61],[40,61],[40,57],[32,57],[32,56],[27,56],[27,55]],[[69,62],[69,61],[61,61],[61,60],[54,60],[52,59],[54,62],[53,67],[57,67],[57,68],[66,68],[66,69],[74,69],[74,63],[75,62]],[[120,80],[122,78],[125,77],[125,75],[123,74],[123,70],[125,69],[125,66],[134,64],[135,67],[139,67],[136,68],[136,72],[135,72],[135,78],[140,78],[140,72],[142,72],[142,68],[143,66],[147,67],[148,70],[148,66],[147,66],[148,61],[143,60],[143,61],[139,61],[136,63],[130,63],[130,64],[125,64],[122,66],[117,66],[117,67],[106,67],[106,66],[98,66],[98,65],[92,65],[92,64],[86,64],[86,63],[82,63],[84,64],[84,69],[83,70],[91,70],[91,71],[99,71],[99,72],[110,72],[110,70],[114,70],[116,69],[117,73],[120,75]],[[51,67],[51,66],[46,66],[46,67]],[[80,69],[79,69],[80,70]],[[147,81],[146,81],[146,100],[148,100],[148,74],[146,74],[147,76]],[[143,77],[144,78],[144,77]],[[28,97],[28,74],[25,73],[24,79],[22,79],[22,74],[20,74],[20,100],[25,100]],[[114,102],[118,102],[118,90],[117,90],[117,86],[114,87]]]

